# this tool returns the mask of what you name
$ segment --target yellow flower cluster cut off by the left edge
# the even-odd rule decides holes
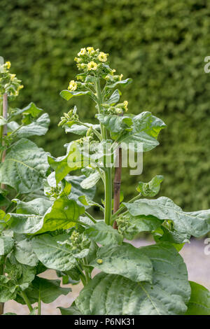
[[[0,98],[4,93],[7,93],[11,99],[17,97],[23,88],[21,80],[16,78],[15,74],[10,73],[10,66],[10,62],[0,64]]]

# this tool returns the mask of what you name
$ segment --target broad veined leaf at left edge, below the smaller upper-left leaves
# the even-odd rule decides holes
[[[0,181],[18,193],[29,193],[42,186],[48,171],[48,154],[28,139],[13,144],[0,165]]]

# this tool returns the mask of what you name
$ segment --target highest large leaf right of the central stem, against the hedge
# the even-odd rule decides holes
[[[159,145],[158,134],[165,123],[153,116],[150,112],[142,112],[132,118],[132,131],[125,132],[118,139],[119,143],[125,143],[132,151],[137,151],[137,144],[143,143],[143,151],[151,151]],[[134,144],[134,145],[133,145]]]

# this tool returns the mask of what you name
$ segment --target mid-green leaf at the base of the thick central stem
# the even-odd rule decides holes
[[[114,244],[122,244],[123,235],[118,233],[118,230],[106,225],[104,221],[98,222],[85,230],[85,234],[93,241],[99,242],[102,246],[110,246]]]

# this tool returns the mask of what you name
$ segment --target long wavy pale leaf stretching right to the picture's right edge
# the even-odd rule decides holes
[[[201,237],[210,230],[210,210],[184,212],[168,197],[156,200],[141,199],[134,203],[124,203],[132,216],[153,215],[159,219],[174,222],[174,229]]]

